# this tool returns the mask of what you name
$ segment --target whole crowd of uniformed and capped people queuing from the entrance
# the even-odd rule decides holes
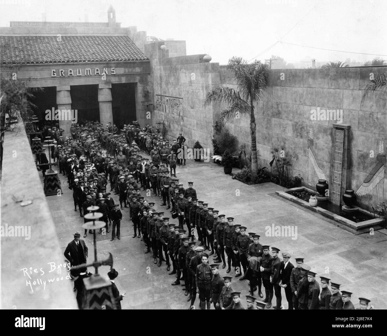
[[[354,309],[352,293],[340,293],[340,284],[326,276],[320,277],[320,285],[316,273],[304,264],[304,258],[296,257],[294,267],[289,262],[292,256],[282,252],[281,261],[279,248],[272,247],[270,253],[270,246],[261,245],[258,234],[247,233],[247,227],[234,224],[233,217],[219,214],[198,200],[193,182],[183,187],[175,171],[176,162],[185,165],[178,155],[185,143],[182,134],[169,143],[160,134],[152,133],[149,125],[141,129],[133,122],[118,130],[115,124],[103,127],[87,121],[79,126],[74,124],[71,136],[66,138],[55,126],[46,126],[43,134],[55,139],[50,155],[58,160],[60,173],[67,176],[68,188],[73,191],[74,211],[78,207],[83,217],[89,212],[87,208],[97,205],[107,233],[112,225],[113,241],[120,239],[120,210],[128,208],[134,226],[133,238],[142,238],[144,253],[151,253],[154,264],[161,267],[166,263],[168,274],[176,276],[173,286],[184,281],[182,286],[190,309],[195,307],[197,293],[201,309],[210,309],[211,303],[215,309],[243,309],[241,293],[232,289],[233,278],[221,278],[219,267],[227,267],[226,273],[233,267],[235,278],[248,280],[248,309],[271,308],[274,295],[273,308],[283,308],[282,289],[288,309]],[[152,190],[153,196],[162,200],[160,206],[166,207],[164,211],[156,210],[155,203],[141,195],[146,190]],[[113,200],[111,192],[118,195],[118,202]],[[178,225],[171,224],[170,218],[164,216],[169,209],[171,217],[178,219]],[[213,263],[209,265],[211,255]],[[254,296],[255,291],[259,299]],[[359,300],[360,309],[370,308],[370,300]]]

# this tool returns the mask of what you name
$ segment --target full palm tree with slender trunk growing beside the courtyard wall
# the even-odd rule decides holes
[[[254,104],[262,100],[267,86],[269,66],[255,60],[249,64],[241,57],[232,57],[228,61],[227,69],[231,70],[238,84],[238,91],[222,86],[209,91],[205,98],[205,105],[212,102],[225,103],[228,106],[219,116],[219,124],[223,126],[236,114],[250,116],[251,135],[251,169],[258,172],[257,140],[255,135]]]

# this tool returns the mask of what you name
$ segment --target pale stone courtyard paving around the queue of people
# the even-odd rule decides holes
[[[235,171],[235,169],[234,169]],[[320,275],[328,272],[332,280],[341,283],[341,290],[353,292],[352,302],[358,306],[358,297],[371,300],[375,309],[387,308],[387,232],[386,229],[369,233],[354,234],[337,226],[336,222],[312,212],[295,203],[279,198],[275,191],[284,190],[273,183],[248,186],[225,175],[223,167],[210,162],[194,162],[187,160],[186,166],[178,166],[176,177],[187,186],[188,181],[194,182],[199,200],[209,203],[209,207],[219,210],[219,214],[235,217],[234,224],[247,227],[247,232],[255,232],[261,236],[261,245],[271,245],[281,252],[292,255],[290,262],[296,265],[294,258],[302,255],[305,263]],[[74,212],[72,191],[68,189],[67,179],[60,174],[63,195],[47,197],[51,208],[60,246],[64,252],[67,244],[74,239],[75,231],[83,236],[83,218]],[[109,190],[109,188],[108,188]],[[141,192],[145,196],[145,191]],[[118,202],[118,195],[112,195]],[[58,202],[58,197],[60,197]],[[164,211],[159,197],[148,197],[148,202],[155,202],[155,208]],[[133,226],[128,220],[128,209],[121,210],[121,240],[110,241],[111,233],[106,236],[98,234],[98,258],[106,259],[108,253],[113,255],[113,267],[118,271],[116,285],[120,293],[127,293],[122,301],[123,309],[187,309],[189,303],[181,286],[171,286],[175,276],[168,275],[166,264],[161,267],[153,264],[151,253],[144,254],[144,243],[132,238]],[[170,217],[165,210],[165,217]],[[170,218],[170,223],[178,224],[177,219]],[[297,239],[292,237],[265,236],[266,226],[290,225],[297,228]],[[110,226],[111,229],[111,226]],[[92,235],[85,240],[89,248],[88,262],[92,261]],[[212,256],[209,258],[212,264]],[[220,264],[222,265],[222,264]],[[108,266],[99,268],[106,274]],[[92,268],[89,271],[93,272]],[[219,269],[221,276],[226,276],[226,269]],[[233,268],[228,274],[235,276]],[[182,282],[183,283],[183,282]],[[233,279],[232,287],[241,291],[241,302],[245,306],[243,295],[248,295],[248,281]],[[264,293],[264,288],[262,288]],[[258,293],[255,292],[255,296]],[[275,296],[272,300],[275,305]],[[288,308],[284,290],[282,303]],[[195,306],[199,306],[196,298]],[[213,307],[212,307],[213,308]]]

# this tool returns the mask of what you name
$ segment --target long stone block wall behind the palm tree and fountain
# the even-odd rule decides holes
[[[371,83],[370,74],[385,71],[386,67],[270,70],[269,86],[264,99],[255,107],[257,147],[262,156],[261,166],[269,167],[273,148],[277,147],[280,150],[283,148],[286,153],[298,155],[294,174],[301,174],[303,184],[308,185],[308,137],[312,129],[313,148],[331,192],[334,143],[332,125],[338,121],[312,120],[311,110],[342,109],[342,124],[350,126],[348,151],[350,178],[343,188],[358,190],[377,164],[379,141],[384,140],[385,147],[387,145],[385,96],[374,98],[360,107],[363,90],[366,84]],[[231,73],[225,67],[220,67],[219,72],[223,86],[236,88]],[[216,111],[214,119],[218,115],[219,111]],[[250,145],[247,117],[234,119],[226,127],[238,136],[240,143]],[[373,154],[370,151],[373,151]],[[387,200],[386,178],[387,174],[384,173],[384,183],[380,182],[370,194],[358,198],[358,203],[367,208],[375,206],[378,202],[377,188],[379,201],[383,188],[384,200]],[[312,169],[312,186],[315,186],[317,179]]]

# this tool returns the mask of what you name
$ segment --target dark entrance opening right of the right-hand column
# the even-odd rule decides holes
[[[134,88],[137,83],[111,84],[113,122],[122,129],[124,124],[136,120],[136,98]]]

